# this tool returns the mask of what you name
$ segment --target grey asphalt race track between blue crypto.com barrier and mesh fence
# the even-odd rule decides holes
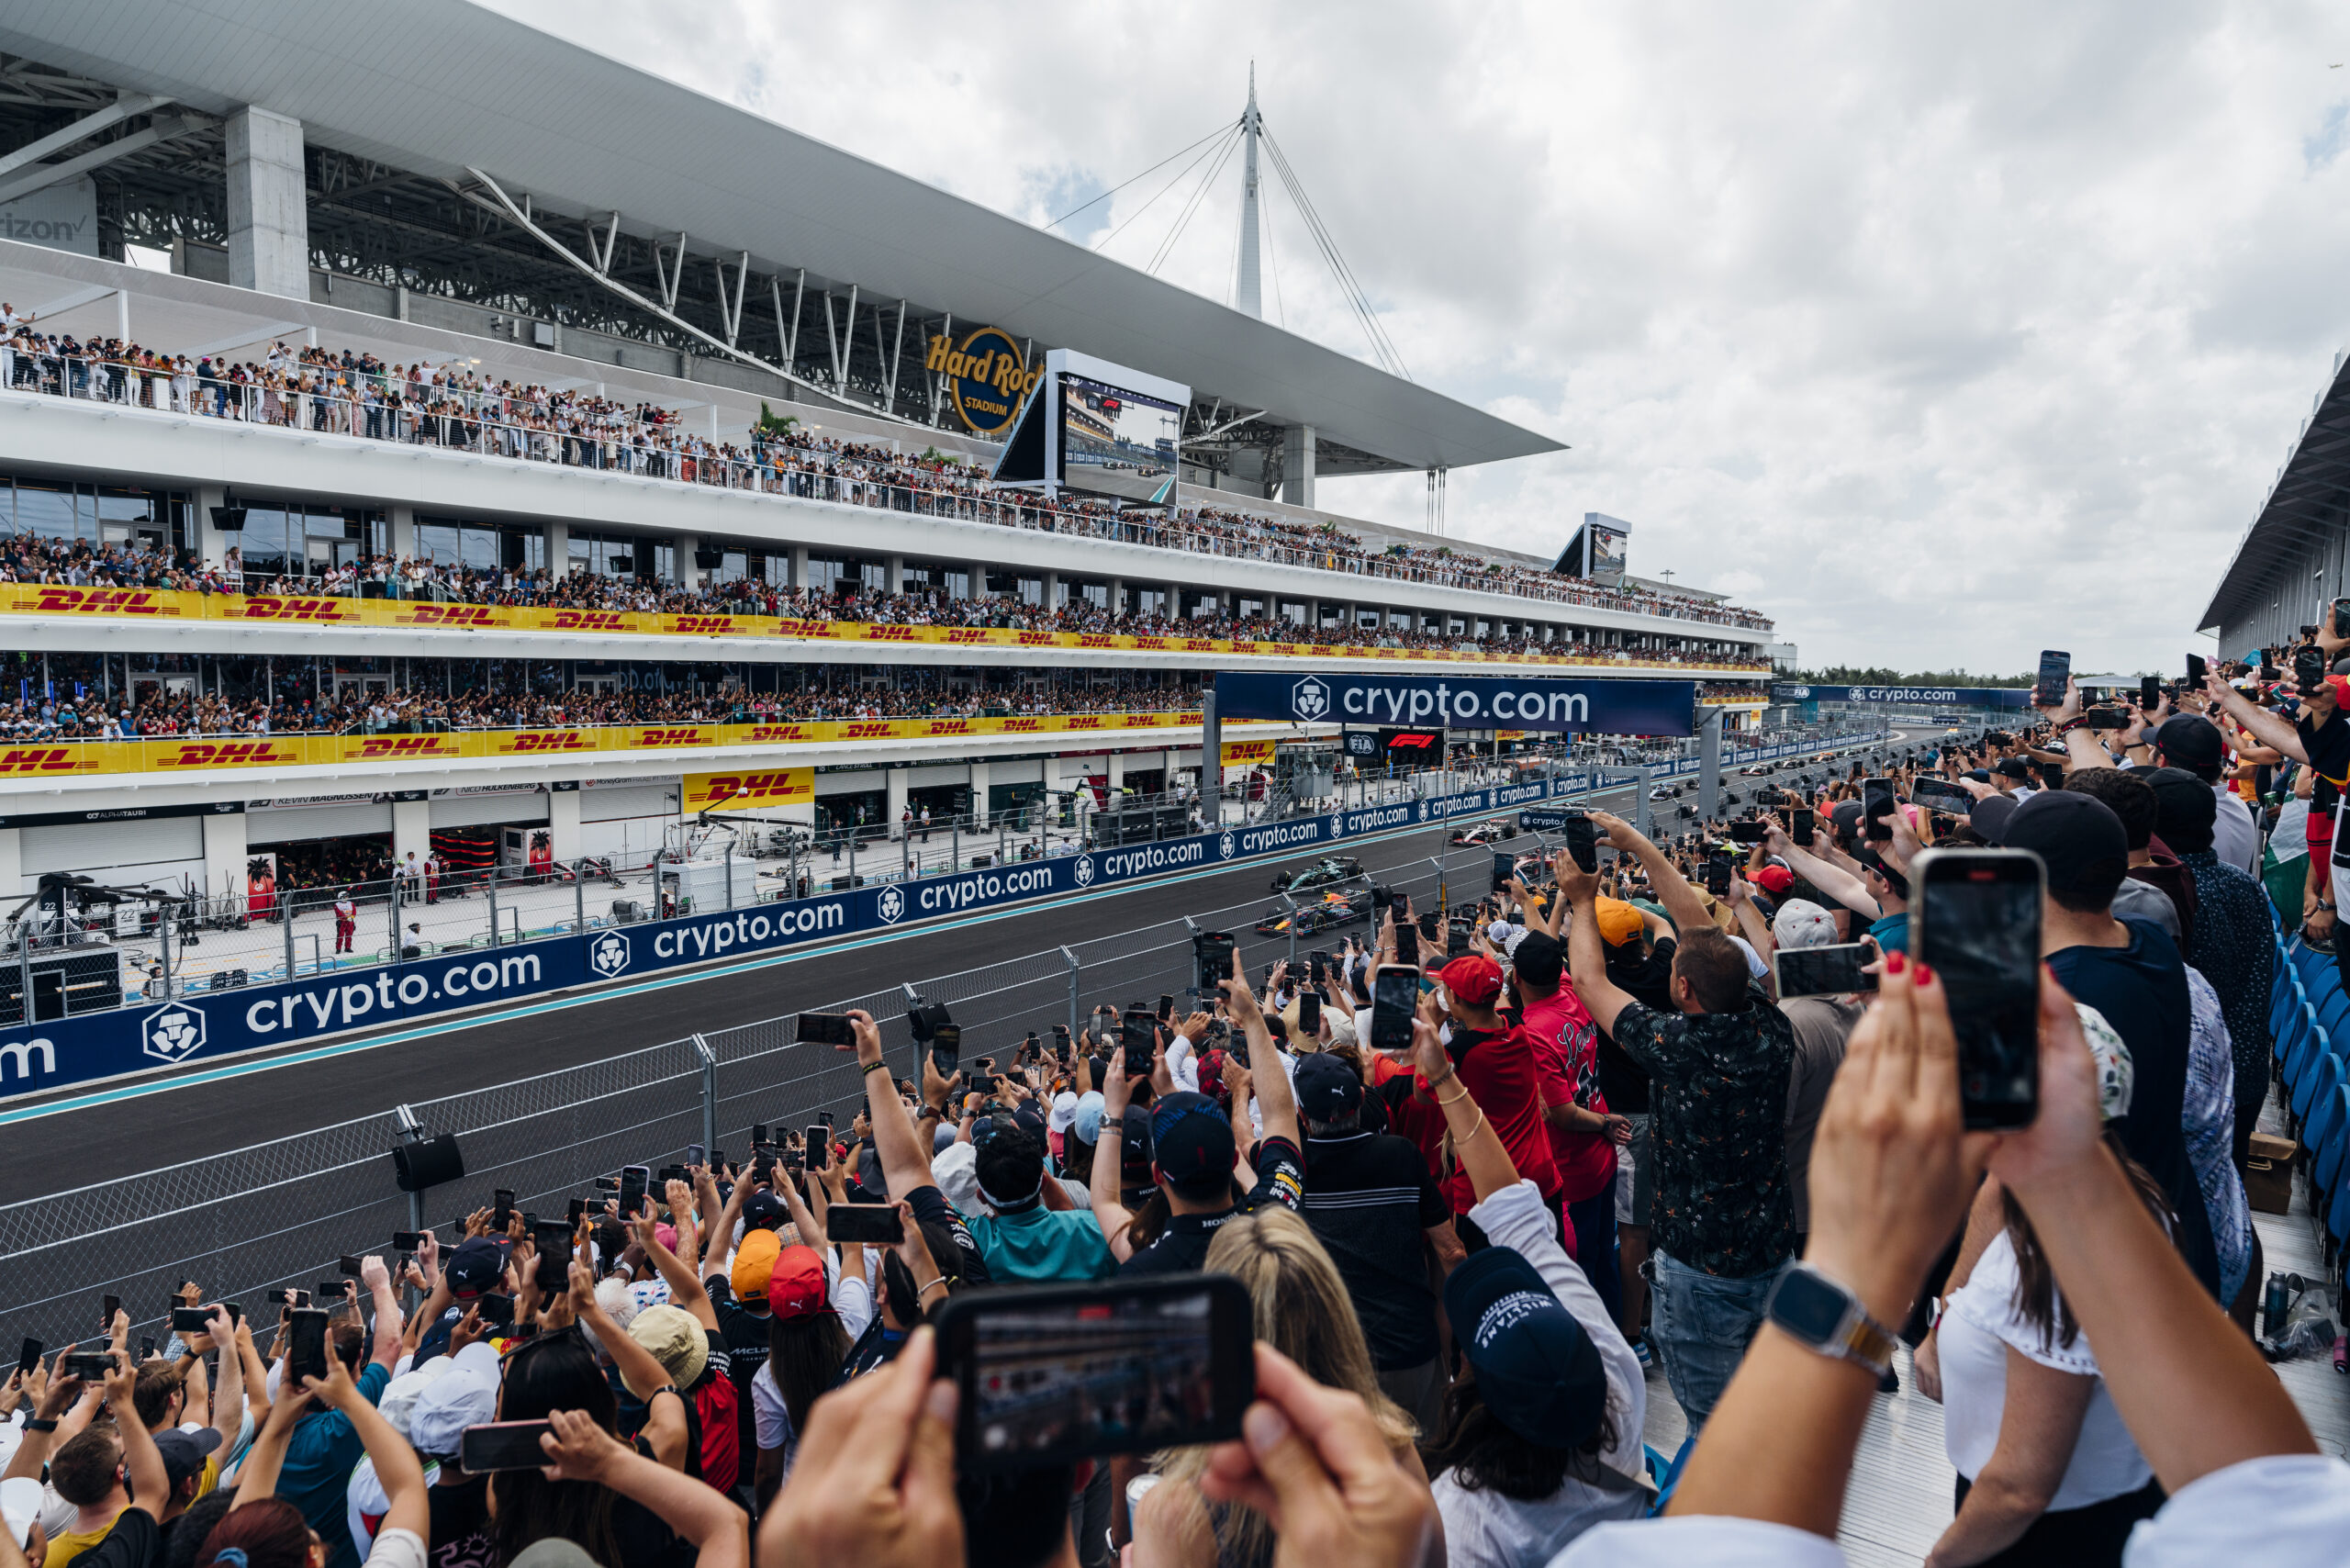
[[[1894,736],[1889,745],[1899,745]],[[1725,788],[1751,799],[1753,780],[1725,776]],[[1774,785],[1798,783],[1795,773],[1772,776]],[[1687,799],[1687,797],[1685,797]],[[1631,788],[1610,790],[1589,804],[1629,816]],[[1666,813],[1676,802],[1659,802],[1659,827],[1683,823]],[[1285,938],[1255,938],[1248,926],[1278,898],[1267,882],[1276,867],[1304,865],[1325,853],[1351,853],[1372,882],[1417,886],[1419,907],[1429,907],[1436,870],[1431,856],[1445,851],[1450,823],[1424,832],[1398,835],[1368,844],[1323,846],[1288,858],[1255,860],[1246,867],[1194,877],[1159,879],[1114,893],[1060,900],[1058,905],[975,914],[928,929],[879,933],[799,954],[773,954],[714,966],[714,973],[667,976],[618,992],[571,992],[538,1004],[491,1009],[477,1023],[411,1023],[374,1032],[355,1032],[338,1041],[320,1041],[214,1067],[141,1079],[110,1091],[66,1093],[42,1103],[12,1105],[0,1135],[0,1192],[38,1194],[87,1182],[106,1182],[176,1161],[202,1159],[223,1150],[284,1138],[303,1128],[348,1121],[409,1100],[439,1098],[503,1084],[524,1074],[555,1072],[620,1051],[682,1039],[689,1032],[714,1032],[733,1025],[778,1018],[801,1009],[837,1004],[891,990],[905,980],[949,976],[1022,954],[1050,952],[1060,945],[1109,945],[1114,952],[1147,952],[1133,961],[1104,954],[1083,971],[1083,1006],[1154,999],[1177,990],[1173,978],[1189,971],[1182,917],[1222,910],[1217,924],[1238,929],[1241,954],[1250,973],[1288,950]],[[1532,839],[1506,846],[1532,849]],[[1455,903],[1485,891],[1485,849],[1452,849],[1450,896]],[[1156,926],[1156,929],[1154,929]],[[1347,933],[1365,924],[1300,938],[1307,947],[1337,947]],[[1112,936],[1130,936],[1112,943]],[[1081,947],[1083,952],[1083,947]],[[966,1058],[1018,1041],[1018,1030],[1048,1027],[1067,1016],[1062,999],[1039,992],[1001,1016],[975,1020],[961,1011],[966,1039],[973,1023],[996,1030],[966,1046]],[[1013,1030],[1006,1041],[999,1030]],[[369,1046],[381,1037],[402,1037]],[[886,1034],[895,1039],[895,1034]],[[101,1103],[87,1103],[101,1100]]]

